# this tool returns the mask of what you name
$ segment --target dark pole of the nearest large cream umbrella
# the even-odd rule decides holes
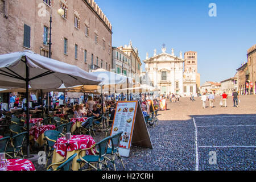
[[[30,157],[30,108],[29,108],[29,101],[28,101],[28,82],[29,82],[29,70],[27,66],[27,57],[25,57],[26,63],[26,121],[27,121],[27,157]]]

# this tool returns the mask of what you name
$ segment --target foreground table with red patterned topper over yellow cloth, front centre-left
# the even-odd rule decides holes
[[[65,137],[59,138],[53,146],[52,164],[59,163],[73,154],[79,154],[82,149],[90,148],[94,144],[94,139],[89,135],[72,135],[70,140],[66,140]],[[93,149],[93,152],[95,153],[96,151]],[[81,155],[93,155],[93,153],[91,150],[86,150],[82,151]],[[76,162],[78,159],[78,155],[73,159],[73,171],[79,170],[79,164]],[[52,168],[55,169],[57,166],[52,166]]]

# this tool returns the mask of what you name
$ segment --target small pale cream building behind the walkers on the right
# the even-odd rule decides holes
[[[233,77],[221,81],[221,93],[226,92],[227,95],[232,96],[234,89],[238,90],[238,78]]]

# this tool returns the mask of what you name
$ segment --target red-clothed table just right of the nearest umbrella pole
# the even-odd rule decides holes
[[[44,132],[48,130],[55,130],[55,125],[41,125],[32,126],[30,129],[30,140],[34,140],[39,144],[39,146],[43,146],[44,144]]]

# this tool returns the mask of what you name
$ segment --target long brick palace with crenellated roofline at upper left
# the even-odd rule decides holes
[[[59,9],[64,15],[59,15]],[[0,54],[31,51],[85,71],[112,64],[112,24],[94,0],[1,0]]]

